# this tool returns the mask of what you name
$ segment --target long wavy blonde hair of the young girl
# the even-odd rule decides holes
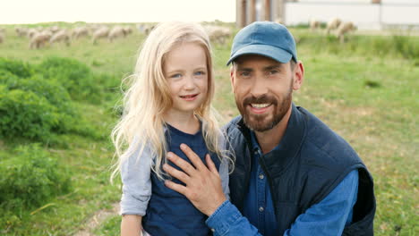
[[[121,165],[139,150],[138,158],[145,148],[153,156],[151,169],[163,179],[160,169],[166,162],[167,143],[163,114],[172,106],[170,90],[163,68],[167,54],[183,43],[196,43],[201,46],[207,57],[208,93],[206,99],[194,111],[201,119],[203,138],[210,152],[216,153],[220,160],[231,163],[225,148],[221,147],[217,113],[210,105],[214,96],[214,78],[210,55],[209,37],[201,25],[187,22],[164,22],[150,32],[143,43],[141,53],[132,76],[128,77],[128,88],[124,92],[124,112],[112,131],[111,138],[115,145],[114,165],[111,180],[120,171]],[[138,159],[136,161],[139,161]]]

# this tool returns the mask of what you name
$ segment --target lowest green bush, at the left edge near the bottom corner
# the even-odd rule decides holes
[[[39,144],[21,146],[0,164],[0,206],[31,209],[71,190],[70,173]]]

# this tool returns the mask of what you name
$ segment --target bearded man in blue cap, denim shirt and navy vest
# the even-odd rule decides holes
[[[231,83],[242,114],[227,124],[235,153],[230,198],[214,164],[189,147],[184,172],[165,165],[185,185],[166,181],[209,215],[214,235],[373,235],[372,177],[344,139],[292,102],[304,81],[293,36],[283,25],[254,22],[235,36]]]

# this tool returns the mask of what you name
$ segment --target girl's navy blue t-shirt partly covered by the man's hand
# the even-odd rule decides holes
[[[188,134],[179,131],[167,124],[166,131],[167,151],[175,153],[187,162],[191,161],[180,149],[182,143],[188,145],[200,156],[205,164],[205,156],[209,150],[205,145],[202,131]],[[219,160],[216,155],[210,155],[214,164],[219,168]],[[180,170],[175,164],[167,162]],[[170,177],[165,177],[170,178]],[[181,183],[173,178],[172,181]],[[205,224],[207,216],[202,214],[184,195],[175,190],[168,189],[164,181],[159,180],[156,173],[151,173],[151,198],[147,207],[146,215],[142,219],[142,226],[150,235],[210,235],[209,228]]]

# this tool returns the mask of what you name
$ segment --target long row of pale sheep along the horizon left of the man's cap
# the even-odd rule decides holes
[[[139,33],[148,35],[154,29],[150,24],[137,24],[136,30]],[[224,44],[227,38],[232,36],[231,29],[217,25],[205,25],[204,28],[209,34],[209,38],[214,43]],[[4,42],[6,30],[0,29],[0,44]],[[73,29],[64,29],[58,26],[38,27],[38,28],[14,28],[15,34],[20,38],[29,39],[30,49],[38,49],[54,44],[65,44],[69,46],[72,41],[79,38],[90,38],[92,44],[97,44],[98,40],[107,39],[113,42],[117,38],[124,38],[133,33],[133,28],[130,26],[113,26],[91,24],[76,27]]]

